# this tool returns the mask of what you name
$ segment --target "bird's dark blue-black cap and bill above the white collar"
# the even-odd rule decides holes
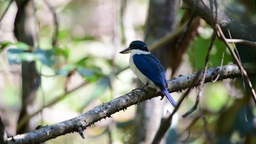
[[[122,53],[122,54],[131,53],[133,50],[149,52],[146,47],[146,44],[143,41],[135,40],[130,43],[128,48],[123,49],[119,53]]]

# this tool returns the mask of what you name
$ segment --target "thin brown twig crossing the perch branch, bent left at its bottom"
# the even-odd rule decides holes
[[[198,88],[198,94],[196,96],[195,105],[188,112],[186,112],[182,116],[183,118],[185,118],[186,116],[191,114],[193,111],[195,111],[195,109],[197,108],[197,105],[199,103],[200,97],[202,96],[202,89],[203,89],[203,85],[204,85],[205,78],[206,78],[206,71],[207,71],[207,66],[208,66],[208,61],[209,61],[209,55],[210,55],[210,51],[211,51],[211,48],[213,46],[215,37],[216,37],[216,31],[214,30],[213,33],[212,33],[212,37],[211,37],[211,43],[210,43],[209,48],[208,48],[208,52],[207,52],[207,56],[206,56],[206,62],[205,62],[204,74],[203,74],[203,78],[202,78],[202,80],[200,82],[200,85],[199,85],[199,88]]]

